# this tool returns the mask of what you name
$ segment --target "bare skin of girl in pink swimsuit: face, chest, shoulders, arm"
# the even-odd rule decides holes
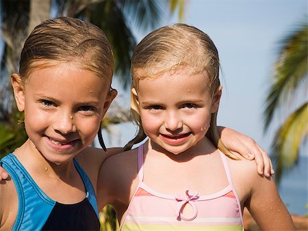
[[[143,151],[144,188],[170,198],[186,189],[200,196],[222,193],[229,182],[219,150],[205,135],[211,113],[218,110],[221,87],[211,94],[207,74],[185,70],[138,81],[132,92],[149,136]],[[227,161],[242,212],[248,208],[262,230],[294,230],[274,180],[259,176],[252,161]],[[108,158],[99,179],[99,206],[111,204],[122,224],[140,184],[138,148]],[[185,206],[182,212],[189,217],[192,208]]]

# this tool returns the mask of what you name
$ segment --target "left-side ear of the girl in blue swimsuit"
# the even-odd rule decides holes
[[[14,92],[14,98],[19,111],[25,110],[25,87],[19,74],[12,74],[11,83]]]

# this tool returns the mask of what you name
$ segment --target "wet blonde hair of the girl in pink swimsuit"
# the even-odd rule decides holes
[[[185,69],[189,74],[206,72],[209,92],[214,95],[218,87],[220,62],[214,42],[203,31],[177,23],[161,27],[146,36],[133,52],[131,60],[131,89],[138,92],[140,79],[155,78],[166,71]],[[140,70],[142,76],[140,76]],[[130,149],[146,138],[136,97],[131,93],[131,116],[139,127],[138,134],[125,146]],[[216,113],[211,115],[209,132],[212,141],[224,154],[234,159],[233,154],[222,144],[216,126]]]

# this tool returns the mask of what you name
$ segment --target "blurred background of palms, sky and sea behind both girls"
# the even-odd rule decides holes
[[[10,74],[23,42],[41,21],[73,16],[105,31],[116,59],[119,92],[102,122],[107,148],[136,134],[129,117],[130,58],[153,29],[188,23],[220,53],[223,96],[218,124],[252,137],[270,154],[279,193],[293,215],[307,216],[308,81],[305,0],[23,0],[0,1],[0,157],[27,139]],[[99,146],[97,140],[94,146]],[[103,230],[115,230],[110,208]],[[306,219],[307,223],[307,219]],[[307,227],[307,226],[306,226]]]

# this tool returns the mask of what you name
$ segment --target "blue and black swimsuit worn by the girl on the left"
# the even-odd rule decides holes
[[[86,198],[77,204],[51,200],[10,153],[0,165],[12,177],[18,193],[18,214],[12,230],[99,230],[99,211],[90,179],[74,159],[86,188]]]

